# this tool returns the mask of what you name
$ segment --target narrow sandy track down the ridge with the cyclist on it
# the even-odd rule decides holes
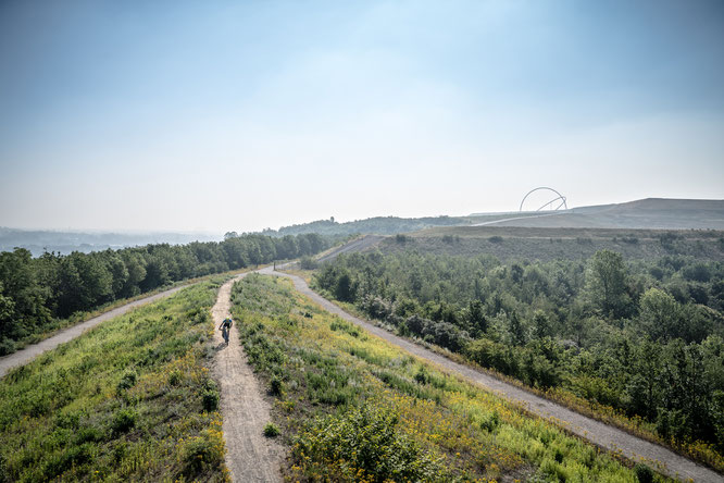
[[[247,362],[236,329],[232,329],[228,346],[219,325],[229,315],[232,285],[246,274],[226,282],[211,313],[214,318],[214,343],[217,351],[213,373],[221,382],[221,412],[226,441],[226,466],[235,482],[282,481],[284,448],[263,436],[271,421],[270,405],[262,397],[262,387]]]

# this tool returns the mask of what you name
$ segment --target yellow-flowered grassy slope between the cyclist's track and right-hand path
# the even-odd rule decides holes
[[[288,281],[248,276],[233,301],[295,481],[637,481],[611,455],[321,310]]]

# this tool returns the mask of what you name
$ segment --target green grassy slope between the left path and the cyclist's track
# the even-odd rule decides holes
[[[216,276],[104,322],[0,381],[0,481],[225,481]]]

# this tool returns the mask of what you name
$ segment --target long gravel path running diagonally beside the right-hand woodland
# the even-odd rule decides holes
[[[332,304],[329,300],[313,292],[307,282],[304,282],[304,280],[299,276],[274,272],[271,268],[263,269],[260,272],[266,275],[278,275],[291,278],[294,281],[295,287],[299,292],[307,295],[315,302],[320,304],[329,312],[335,313],[349,322],[360,325],[370,333],[382,337],[383,339],[388,340],[422,359],[432,361],[450,372],[461,374],[470,381],[480,384],[486,388],[500,394],[509,400],[521,404],[528,411],[538,414],[541,418],[553,420],[572,433],[586,438],[600,447],[619,453],[634,461],[644,461],[656,467],[659,471],[681,480],[691,479],[695,482],[707,483],[721,483],[724,481],[722,475],[715,471],[701,465],[697,465],[694,461],[684,458],[683,456],[679,456],[670,449],[633,436],[625,431],[610,426],[600,421],[596,421],[595,419],[587,418],[548,399],[538,397],[532,393],[528,393],[527,391],[500,381],[489,374],[476,371],[475,369],[467,366],[453,362],[444,356],[435,354],[434,351],[408,339],[398,337],[370,322],[350,315],[336,305]],[[226,418],[224,421],[226,421]]]

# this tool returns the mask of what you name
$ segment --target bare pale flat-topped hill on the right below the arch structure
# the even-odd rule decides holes
[[[524,213],[521,213],[524,214]],[[647,198],[565,211],[517,213],[485,225],[540,228],[724,230],[724,200]]]

